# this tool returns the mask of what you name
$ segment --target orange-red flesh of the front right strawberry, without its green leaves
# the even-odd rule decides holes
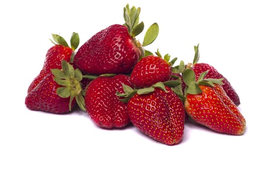
[[[245,131],[245,120],[236,105],[230,102],[222,87],[216,86],[199,85],[202,93],[187,94],[184,103],[186,112],[195,122],[212,130],[230,135],[242,135]],[[218,91],[221,91],[221,94]]]

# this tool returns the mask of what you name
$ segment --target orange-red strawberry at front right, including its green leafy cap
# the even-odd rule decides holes
[[[242,135],[245,131],[245,119],[235,103],[227,96],[219,82],[223,79],[204,79],[208,71],[203,72],[196,82],[192,69],[183,73],[187,87],[185,89],[185,110],[195,122],[214,131]]]

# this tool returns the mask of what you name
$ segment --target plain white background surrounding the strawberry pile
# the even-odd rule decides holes
[[[200,62],[215,66],[240,96],[244,135],[223,135],[190,123],[182,142],[167,146],[132,125],[98,128],[79,110],[53,115],[26,108],[27,88],[52,46],[51,34],[69,40],[77,32],[82,45],[107,26],[123,24],[127,2],[141,7],[145,30],[154,22],[159,25],[158,38],[147,50],[159,48],[188,63],[200,43]],[[0,169],[255,170],[255,7],[253,0],[2,0]],[[144,34],[137,37],[141,42]]]

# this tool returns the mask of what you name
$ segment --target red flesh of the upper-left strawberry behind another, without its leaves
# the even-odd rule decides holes
[[[39,84],[39,82],[51,72],[52,68],[61,69],[62,60],[69,62],[72,52],[73,50],[71,48],[62,45],[55,45],[51,47],[46,53],[43,68],[41,69],[39,75],[29,85],[27,93],[33,90]]]

